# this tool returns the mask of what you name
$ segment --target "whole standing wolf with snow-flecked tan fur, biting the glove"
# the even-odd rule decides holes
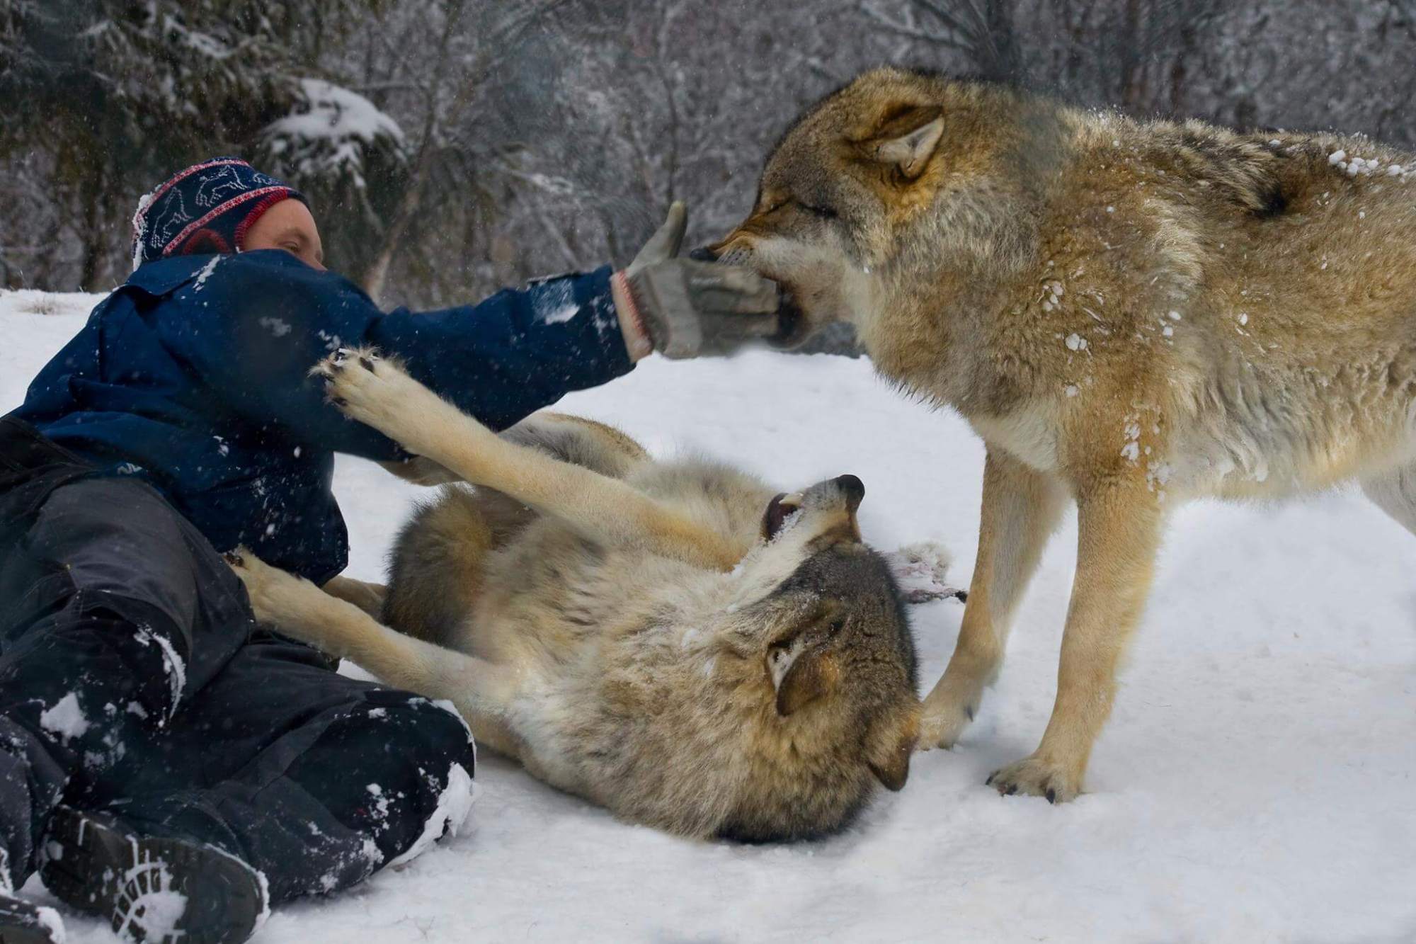
[[[969,607],[920,746],[998,672],[1063,500],[1076,581],[1042,743],[1001,792],[1068,799],[1165,513],[1358,479],[1416,530],[1416,156],[1364,137],[1082,112],[881,69],[810,109],[716,251],[851,322],[987,444]]]

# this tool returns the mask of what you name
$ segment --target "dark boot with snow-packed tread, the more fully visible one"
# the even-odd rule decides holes
[[[265,877],[215,846],[144,836],[112,815],[59,807],[40,876],[61,901],[127,941],[236,944],[268,913]],[[8,943],[8,938],[6,938]]]

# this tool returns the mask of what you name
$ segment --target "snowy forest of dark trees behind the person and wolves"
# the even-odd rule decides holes
[[[139,194],[217,153],[387,305],[624,262],[882,62],[1416,146],[1416,0],[0,0],[0,288],[123,281]]]

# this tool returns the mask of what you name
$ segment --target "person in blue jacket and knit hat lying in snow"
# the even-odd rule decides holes
[[[0,418],[0,940],[52,941],[38,867],[137,940],[239,941],[455,831],[452,712],[336,675],[255,625],[218,550],[316,583],[347,563],[334,452],[409,456],[324,403],[340,346],[398,354],[503,428],[653,349],[776,329],[770,282],[677,258],[684,211],[607,266],[442,312],[326,272],[304,198],[249,164],[181,172],[135,217],[135,272]]]

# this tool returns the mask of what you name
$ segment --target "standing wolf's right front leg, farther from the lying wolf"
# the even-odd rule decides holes
[[[1160,543],[1160,498],[1138,469],[1078,495],[1078,556],[1058,696],[1042,743],[988,778],[1001,794],[1072,799],[1112,712],[1116,665],[1140,619]]]

